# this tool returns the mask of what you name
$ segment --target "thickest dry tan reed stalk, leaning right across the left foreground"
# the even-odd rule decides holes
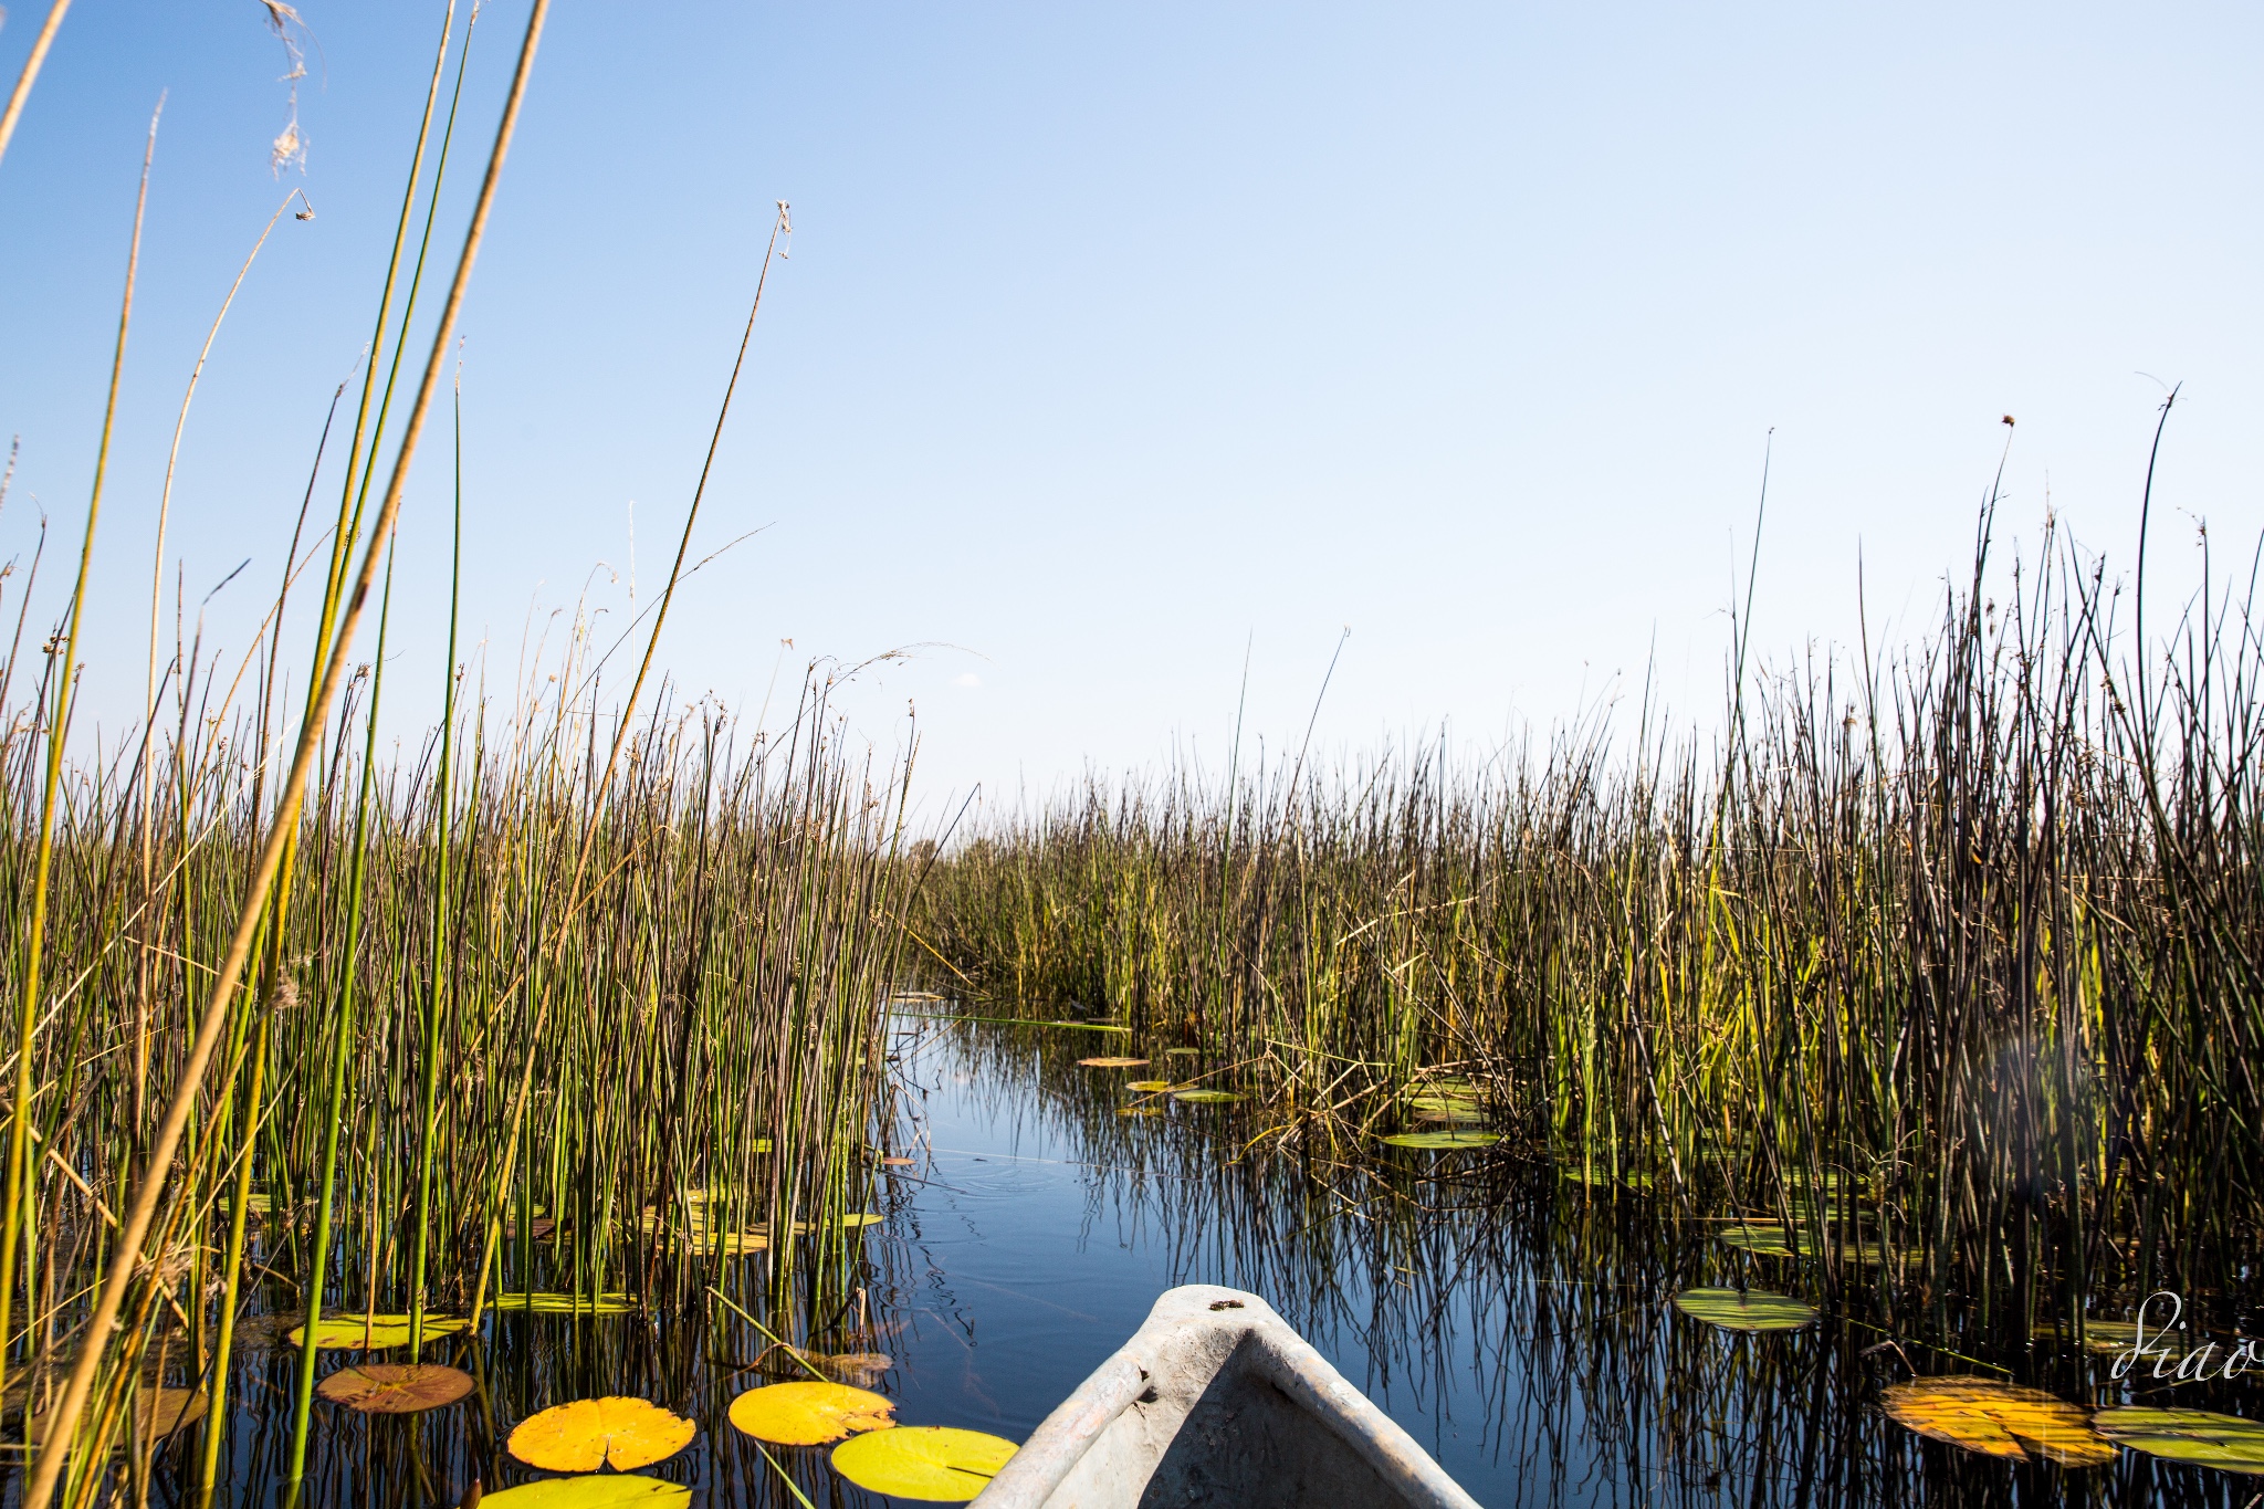
[[[134,1269],[140,1260],[143,1240],[149,1235],[149,1224],[156,1217],[158,1201],[165,1192],[165,1174],[172,1165],[172,1154],[179,1147],[181,1131],[188,1124],[188,1115],[195,1106],[197,1088],[204,1081],[204,1070],[211,1063],[213,1050],[220,1045],[222,1029],[229,1020],[229,1004],[235,993],[235,984],[242,977],[245,962],[251,955],[256,932],[260,925],[260,914],[267,905],[267,887],[276,876],[276,866],[283,857],[285,842],[299,828],[299,801],[306,794],[306,781],[315,762],[315,751],[321,742],[321,733],[328,726],[331,708],[337,695],[344,690],[346,681],[346,658],[353,647],[353,631],[360,627],[362,609],[369,600],[369,584],[376,577],[380,543],[392,536],[394,516],[401,509],[401,491],[408,482],[410,464],[417,455],[417,441],[423,434],[426,414],[432,405],[432,394],[437,389],[441,369],[446,364],[448,344],[455,337],[455,321],[464,305],[464,287],[471,281],[471,267],[480,251],[480,240],[487,233],[487,217],[494,210],[496,186],[503,176],[503,161],[509,154],[512,133],[518,129],[518,111],[525,100],[528,77],[534,68],[534,48],[541,41],[543,20],[548,18],[550,0],[534,0],[528,16],[528,32],[518,48],[518,68],[512,75],[512,88],[503,104],[503,120],[496,127],[496,145],[487,158],[487,176],[480,183],[480,197],[473,204],[471,226],[464,231],[464,249],[457,256],[455,278],[448,285],[448,301],[441,308],[439,328],[432,339],[432,353],[426,360],[423,380],[417,391],[417,405],[410,409],[410,421],[403,428],[401,450],[394,457],[392,480],[385,489],[385,500],[378,507],[378,516],[369,532],[369,547],[362,557],[360,575],[353,584],[353,595],[346,600],[346,611],[337,624],[335,645],[331,647],[328,663],[324,667],[321,681],[312,688],[308,697],[308,708],[303,726],[299,733],[299,749],[292,756],[290,778],[276,801],[276,819],[260,846],[258,862],[251,871],[245,905],[235,923],[235,937],[229,941],[229,952],[222,957],[215,971],[211,995],[206,1000],[204,1020],[197,1029],[197,1041],[190,1047],[188,1061],[181,1066],[181,1077],[174,1086],[172,1104],[165,1111],[165,1120],[158,1124],[158,1133],[152,1140],[149,1158],[145,1163],[143,1176],[134,1192],[134,1204],[127,1213],[118,1238],[118,1256],[111,1262],[111,1271],[104,1276],[102,1294],[95,1301],[95,1310],[88,1323],[88,1335],[109,1337],[111,1321],[118,1319],[118,1310],[125,1303],[127,1287],[134,1281]],[[86,1407],[86,1396],[93,1385],[95,1366],[102,1360],[102,1346],[88,1346],[82,1351],[79,1362],[70,1371],[70,1385],[63,1391],[61,1403],[50,1419],[48,1443],[38,1455],[38,1466],[34,1468],[32,1482],[25,1486],[25,1509],[45,1509],[54,1493],[54,1482],[63,1471],[68,1459],[72,1437],[77,1432],[79,1412]]]

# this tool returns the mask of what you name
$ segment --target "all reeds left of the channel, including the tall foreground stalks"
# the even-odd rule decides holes
[[[36,561],[16,584],[0,885],[25,930],[0,1366],[14,1364],[14,1450],[34,1457],[27,1504],[145,1502],[156,1466],[136,1409],[161,1385],[211,1400],[188,1489],[211,1502],[245,1421],[229,1398],[251,1366],[247,1326],[272,1342],[306,1323],[283,1389],[297,1500],[319,1464],[326,1314],[405,1312],[417,1348],[480,1366],[496,1303],[564,1292],[591,1312],[629,1296],[704,1314],[720,1294],[808,1335],[860,1271],[842,1217],[869,1188],[906,771],[842,742],[822,667],[783,726],[675,704],[657,652],[715,441],[666,590],[632,624],[643,654],[625,688],[604,670],[623,645],[593,640],[577,611],[564,645],[537,647],[491,695],[457,661],[451,595],[441,724],[394,753],[380,740],[394,523],[543,14],[539,0],[419,376],[405,344],[464,81],[457,50],[439,118],[453,5],[444,16],[337,518],[301,554],[301,509],[251,649],[215,661],[177,593],[163,667],[152,636],[143,726],[72,744],[100,468],[77,581],[29,663]],[[783,231],[781,206],[754,312]],[[403,376],[414,396],[387,459]],[[186,419],[188,398],[177,448]],[[308,505],[328,434],[326,421]],[[355,665],[380,557],[378,656]],[[163,536],[158,561],[154,627]],[[285,606],[317,563],[312,640],[288,645]],[[283,667],[301,649],[310,676],[292,699]],[[441,1314],[471,1330],[435,1330]]]

